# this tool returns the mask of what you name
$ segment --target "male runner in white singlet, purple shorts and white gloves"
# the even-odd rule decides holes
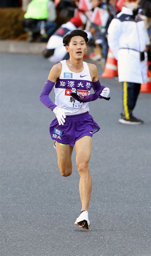
[[[49,73],[40,101],[51,109],[56,118],[50,124],[50,135],[56,141],[58,166],[62,176],[72,173],[71,156],[76,147],[76,166],[80,175],[81,214],[75,224],[89,229],[88,207],[92,181],[89,160],[92,135],[100,127],[89,114],[88,102],[109,95],[109,88],[100,85],[97,67],[83,62],[88,37],[82,30],[73,30],[63,37],[70,58],[54,65]],[[49,94],[54,87],[55,104]],[[90,94],[90,89],[94,94]],[[107,98],[109,99],[109,98]]]

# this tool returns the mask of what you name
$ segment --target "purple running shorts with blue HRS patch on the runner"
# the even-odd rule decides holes
[[[84,136],[92,137],[93,133],[98,132],[99,129],[100,127],[89,112],[85,112],[66,116],[64,125],[59,125],[57,118],[54,118],[50,124],[50,135],[57,142],[73,147],[78,139]]]

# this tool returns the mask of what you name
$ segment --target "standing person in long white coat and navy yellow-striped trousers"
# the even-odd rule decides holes
[[[138,10],[138,1],[124,0],[122,11],[108,28],[108,44],[118,60],[119,82],[123,84],[121,124],[142,124],[133,116],[141,83],[147,80],[145,24]]]

